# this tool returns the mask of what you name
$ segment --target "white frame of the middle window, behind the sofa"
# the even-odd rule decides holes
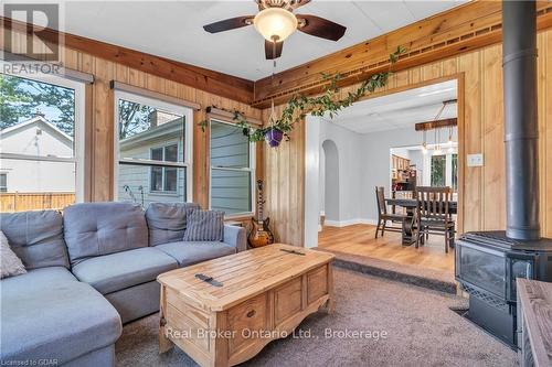
[[[162,162],[155,161],[151,159],[121,159],[119,154],[119,99],[132,101],[140,105],[146,105],[153,107],[156,109],[162,110],[164,112],[173,114],[177,116],[182,116],[184,118],[184,149],[183,149],[183,162]],[[115,90],[114,93],[114,116],[115,116],[115,129],[114,129],[114,199],[118,199],[118,179],[119,179],[119,163],[125,162],[132,165],[141,166],[174,166],[177,169],[185,170],[185,202],[192,203],[193,201],[193,110],[189,107],[178,106],[174,104],[169,104],[167,101],[149,98],[145,96],[139,96],[124,90]],[[180,152],[179,152],[180,153]],[[164,153],[163,153],[164,154]],[[148,179],[148,188],[151,188],[150,184],[151,175]],[[152,192],[156,195],[174,195],[172,192]]]

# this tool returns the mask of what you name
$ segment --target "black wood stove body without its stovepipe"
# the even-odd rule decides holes
[[[552,239],[481,231],[456,241],[456,279],[469,293],[468,317],[511,346],[517,345],[517,278],[552,281]]]

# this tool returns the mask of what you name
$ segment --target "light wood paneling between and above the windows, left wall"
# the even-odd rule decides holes
[[[0,32],[1,34],[1,32]],[[25,35],[19,34],[25,42]],[[3,40],[3,37],[1,37]],[[94,84],[87,86],[86,118],[86,177],[87,199],[109,201],[114,197],[114,91],[110,80],[126,83],[139,88],[164,94],[171,97],[201,105],[194,111],[193,129],[193,201],[202,207],[209,206],[209,130],[203,132],[198,122],[206,118],[205,108],[216,106],[229,110],[237,109],[245,116],[262,118],[262,110],[246,104],[221,97],[201,89],[187,86],[160,76],[114,63],[86,52],[66,46],[61,48],[61,61],[65,67],[94,75]],[[258,150],[262,162],[262,150]],[[262,166],[257,165],[262,174]]]

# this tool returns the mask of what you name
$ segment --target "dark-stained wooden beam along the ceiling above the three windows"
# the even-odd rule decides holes
[[[0,21],[4,32],[7,30],[26,34],[33,32],[32,24],[28,26],[24,22],[6,17],[0,17]],[[254,83],[252,80],[52,29],[41,29],[41,35],[45,42],[61,43],[68,48],[179,82],[221,97],[245,104],[253,101]],[[9,48],[9,45],[4,45],[4,47]],[[11,52],[11,50],[6,51]]]

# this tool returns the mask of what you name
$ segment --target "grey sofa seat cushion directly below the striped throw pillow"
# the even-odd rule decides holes
[[[179,241],[159,245],[156,248],[173,257],[180,267],[236,253],[235,247],[219,241]]]

